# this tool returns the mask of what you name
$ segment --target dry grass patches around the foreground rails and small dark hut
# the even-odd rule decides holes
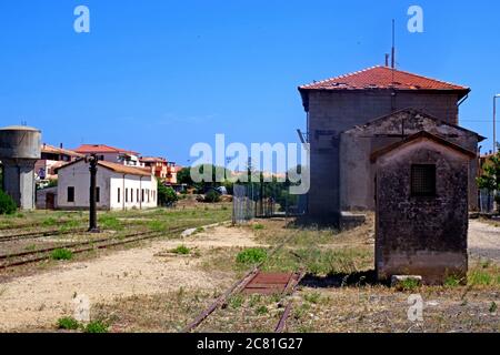
[[[471,263],[468,285],[422,286],[397,291],[373,277],[372,216],[350,232],[294,229],[284,221],[266,220],[239,227],[252,231],[256,242],[271,250],[292,235],[264,263],[268,271],[308,275],[293,297],[233,295],[197,332],[272,332],[288,302],[293,303],[288,332],[499,332],[500,268]],[[256,227],[254,225],[259,225]],[[248,271],[237,262],[243,247],[213,247],[201,254],[199,267],[223,273],[228,285]],[[100,306],[116,332],[176,332],[192,321],[223,290],[189,290],[148,297],[131,297]],[[408,297],[420,294],[423,322],[408,320]]]

